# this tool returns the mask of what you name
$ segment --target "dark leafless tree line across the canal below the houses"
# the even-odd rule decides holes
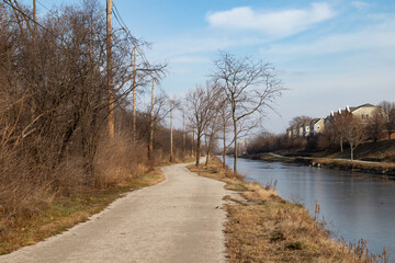
[[[312,117],[296,116],[290,126],[309,122]],[[325,125],[323,133],[307,138],[290,138],[287,135],[273,135],[267,132],[256,136],[249,144],[247,152],[259,153],[276,150],[339,150],[343,152],[345,145],[350,149],[350,159],[354,159],[354,150],[364,141],[376,142],[391,139],[395,133],[395,103],[383,101],[368,119],[360,119],[351,113],[335,115]]]

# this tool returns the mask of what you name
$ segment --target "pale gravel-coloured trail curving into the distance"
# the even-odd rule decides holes
[[[167,181],[0,262],[225,262],[226,214],[216,208],[227,194],[224,183],[200,178],[185,164],[162,170]]]

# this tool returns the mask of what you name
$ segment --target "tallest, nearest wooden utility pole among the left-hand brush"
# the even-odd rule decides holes
[[[112,60],[112,0],[106,0],[106,70],[109,88],[109,137],[114,140],[114,83]]]

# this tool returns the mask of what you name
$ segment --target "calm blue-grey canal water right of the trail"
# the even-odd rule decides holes
[[[233,168],[234,159],[226,162]],[[238,172],[262,185],[276,181],[282,198],[303,204],[314,215],[316,201],[329,229],[347,242],[368,242],[370,252],[385,247],[395,261],[395,181],[364,173],[281,162],[237,159]]]

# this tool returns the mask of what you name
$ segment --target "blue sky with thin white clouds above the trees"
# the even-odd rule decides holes
[[[160,85],[171,96],[204,83],[219,50],[272,64],[286,91],[267,111],[268,132],[285,133],[298,115],[395,101],[393,0],[113,1],[132,34],[153,44],[148,59],[169,64]]]

